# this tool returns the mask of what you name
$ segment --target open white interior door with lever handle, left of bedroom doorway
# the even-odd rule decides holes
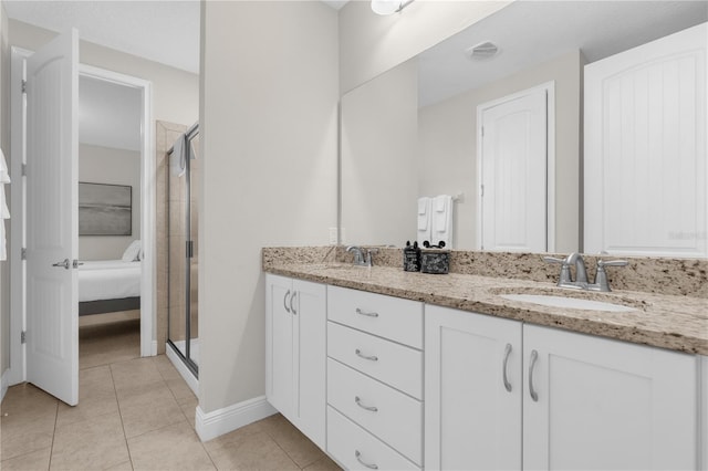
[[[77,98],[72,30],[27,61],[27,378],[72,406],[79,401]]]

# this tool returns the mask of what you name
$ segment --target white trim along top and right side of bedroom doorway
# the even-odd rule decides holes
[[[143,91],[143,115],[140,130],[143,134],[142,169],[140,169],[140,240],[143,241],[143,276],[140,281],[140,356],[154,356],[155,339],[157,270],[155,268],[156,221],[155,221],[155,137],[153,123],[153,84],[149,81],[121,74],[92,65],[80,64],[79,74],[123,86]]]

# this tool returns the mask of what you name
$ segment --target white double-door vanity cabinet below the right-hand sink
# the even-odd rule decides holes
[[[426,469],[697,467],[696,356],[429,305],[425,334]]]

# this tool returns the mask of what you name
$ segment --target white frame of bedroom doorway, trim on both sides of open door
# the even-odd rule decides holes
[[[12,48],[11,52],[11,101],[12,101],[12,172],[22,175],[22,179],[15,181],[12,188],[12,213],[14,222],[12,224],[12,252],[11,252],[11,276],[14,281],[11,287],[11,359],[10,359],[10,384],[22,383],[28,378],[27,352],[23,343],[27,326],[27,276],[28,266],[23,257],[22,248],[27,247],[27,177],[24,176],[25,165],[25,96],[22,90],[22,81],[25,73],[25,61],[32,52]],[[154,233],[155,214],[154,201],[155,189],[155,166],[150,149],[153,148],[152,129],[152,84],[148,81],[118,74],[115,72],[80,65],[79,74],[82,78],[98,81],[102,83],[123,86],[134,90],[139,95],[139,228],[140,240],[143,241],[142,269],[139,279],[139,353],[140,356],[152,356],[156,354],[156,343],[154,338]],[[80,263],[80,262],[79,262]]]

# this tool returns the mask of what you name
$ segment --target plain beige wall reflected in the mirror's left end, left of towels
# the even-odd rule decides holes
[[[416,238],[418,69],[412,59],[342,97],[343,243]]]

